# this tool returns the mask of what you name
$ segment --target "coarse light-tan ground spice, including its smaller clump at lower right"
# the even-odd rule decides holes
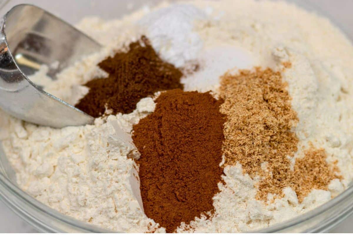
[[[268,193],[282,196],[282,189],[291,186],[302,200],[311,189],[327,189],[329,181],[337,178],[322,149],[305,151],[294,171],[290,169],[290,157],[298,150],[298,138],[291,128],[298,117],[280,72],[256,68],[254,72],[225,74],[220,96],[225,100],[221,112],[228,118],[223,143],[225,164],[239,162],[244,173],[263,177],[258,199],[266,200]],[[264,162],[268,172],[262,169]]]

